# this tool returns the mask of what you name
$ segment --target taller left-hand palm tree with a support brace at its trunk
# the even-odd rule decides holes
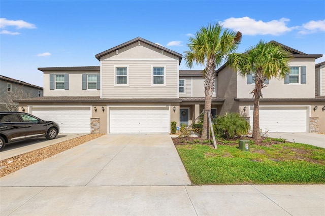
[[[189,38],[187,47],[189,51],[185,52],[185,63],[191,68],[193,63],[205,66],[203,72],[205,105],[204,119],[202,128],[202,138],[209,139],[208,131],[208,112],[211,112],[212,93],[215,88],[215,69],[220,66],[223,59],[230,53],[235,52],[240,44],[242,34],[239,31],[230,31],[223,29],[222,25],[215,23],[207,27],[201,27]]]

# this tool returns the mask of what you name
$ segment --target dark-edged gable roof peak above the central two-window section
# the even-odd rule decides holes
[[[182,57],[183,57],[182,54],[179,54],[179,53],[177,53],[177,52],[174,52],[173,50],[167,49],[167,48],[165,48],[165,47],[163,47],[163,46],[160,46],[160,45],[158,45],[158,44],[152,43],[152,42],[147,41],[147,40],[145,40],[145,39],[143,39],[143,38],[140,38],[140,37],[135,38],[135,39],[132,39],[131,41],[127,41],[127,42],[125,42],[125,43],[123,43],[123,44],[120,44],[120,45],[118,45],[118,46],[116,46],[116,47],[113,47],[113,48],[111,48],[111,49],[105,50],[104,52],[101,52],[101,53],[95,55],[95,57],[96,57],[96,59],[98,59],[98,60],[100,61],[100,60],[101,60],[101,57],[103,57],[103,56],[105,56],[105,55],[107,55],[107,54],[109,54],[109,53],[111,53],[111,52],[115,52],[115,50],[121,49],[121,48],[123,48],[123,47],[127,47],[127,46],[129,46],[129,45],[131,45],[131,44],[133,44],[133,43],[138,42],[138,41],[141,41],[141,42],[143,42],[143,43],[145,43],[145,44],[148,44],[148,45],[150,45],[150,46],[152,46],[152,47],[155,47],[155,48],[157,48],[157,49],[159,49],[159,50],[164,50],[164,52],[170,53],[170,54],[172,54],[172,55],[178,57],[178,58],[179,58],[179,63],[180,63],[181,60],[182,60]]]

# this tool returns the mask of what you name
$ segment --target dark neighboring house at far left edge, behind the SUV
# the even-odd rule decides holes
[[[18,111],[13,100],[43,96],[43,88],[0,75],[0,111]]]

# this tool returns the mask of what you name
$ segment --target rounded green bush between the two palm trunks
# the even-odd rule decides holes
[[[220,116],[216,119],[216,125],[213,126],[214,133],[218,137],[226,139],[248,133],[249,123],[240,117],[239,113],[230,113]]]

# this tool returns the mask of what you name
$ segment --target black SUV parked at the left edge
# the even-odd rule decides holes
[[[28,113],[0,112],[0,151],[6,143],[45,136],[54,139],[59,133],[59,125],[44,121]]]

